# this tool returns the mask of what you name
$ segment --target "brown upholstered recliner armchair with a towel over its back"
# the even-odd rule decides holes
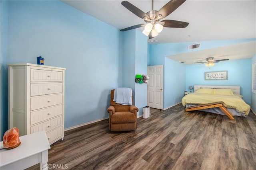
[[[114,90],[110,92],[109,126],[110,131],[132,131],[137,128],[137,112],[139,109],[132,105],[121,105],[113,101]],[[133,104],[133,100],[132,100]]]

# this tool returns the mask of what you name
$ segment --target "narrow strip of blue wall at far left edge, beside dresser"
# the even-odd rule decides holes
[[[7,33],[8,33],[8,1],[0,1],[0,138],[8,129],[8,72],[6,66],[7,57]]]

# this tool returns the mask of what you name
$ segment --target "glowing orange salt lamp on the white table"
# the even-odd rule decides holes
[[[5,149],[13,149],[20,145],[19,129],[13,127],[4,133],[3,146]]]

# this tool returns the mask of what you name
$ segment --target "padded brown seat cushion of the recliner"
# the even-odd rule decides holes
[[[130,111],[115,112],[111,116],[111,123],[129,123],[135,121],[136,116],[134,115],[134,113],[131,113]]]

